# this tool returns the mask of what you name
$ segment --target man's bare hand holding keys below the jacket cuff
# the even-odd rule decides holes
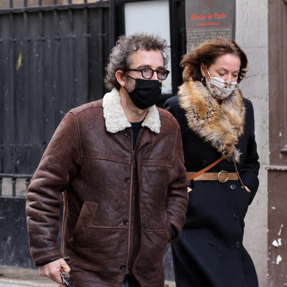
[[[62,285],[63,281],[60,275],[60,268],[62,268],[64,272],[70,273],[71,269],[69,265],[63,258],[60,258],[46,265],[40,266],[40,274]]]

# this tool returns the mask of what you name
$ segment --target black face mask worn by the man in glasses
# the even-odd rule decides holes
[[[134,80],[136,80],[135,89],[128,92],[132,102],[142,110],[156,104],[161,95],[161,83],[158,80]]]

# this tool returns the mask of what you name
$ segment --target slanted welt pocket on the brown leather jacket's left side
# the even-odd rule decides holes
[[[94,219],[98,203],[84,202],[80,216],[72,233],[71,242],[81,245],[86,239],[87,232]]]

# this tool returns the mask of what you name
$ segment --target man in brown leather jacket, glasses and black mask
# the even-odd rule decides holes
[[[162,252],[181,235],[190,184],[179,125],[155,106],[167,62],[158,36],[120,37],[105,78],[112,91],[69,111],[54,133],[27,190],[41,275],[62,284],[69,273],[75,286],[164,285]]]

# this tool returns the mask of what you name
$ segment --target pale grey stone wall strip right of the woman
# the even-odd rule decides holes
[[[267,287],[267,221],[269,165],[268,110],[268,3],[237,0],[236,42],[249,61],[249,71],[239,84],[254,107],[255,135],[260,157],[260,186],[245,219],[244,246],[255,264],[260,287]]]

